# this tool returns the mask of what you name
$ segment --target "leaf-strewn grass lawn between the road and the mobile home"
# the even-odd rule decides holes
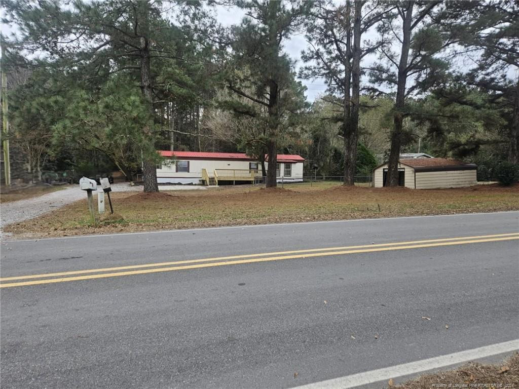
[[[94,202],[95,195],[94,195]],[[17,238],[519,210],[519,186],[460,189],[228,186],[159,193],[112,193],[115,214],[89,222],[86,199],[5,228]],[[108,209],[108,204],[106,204]]]

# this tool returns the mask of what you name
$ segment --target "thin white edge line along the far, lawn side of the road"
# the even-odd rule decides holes
[[[242,228],[243,229],[243,228],[250,228],[250,227],[297,226],[297,225],[301,225],[301,224],[307,225],[307,224],[324,224],[324,223],[344,223],[346,221],[378,221],[378,220],[397,220],[397,219],[420,219],[420,218],[426,218],[426,217],[494,215],[494,214],[502,214],[502,213],[517,213],[519,215],[519,211],[499,211],[499,212],[457,213],[457,214],[449,214],[449,215],[424,215],[424,216],[380,217],[380,218],[366,218],[366,219],[296,221],[295,223],[246,224],[246,225],[242,225],[242,226],[201,227],[201,228],[185,228],[185,229],[178,229],[178,230],[138,231],[138,232],[120,232],[120,233],[112,233],[112,234],[73,235],[70,237],[55,237],[55,238],[3,239],[2,243],[48,241],[48,240],[56,240],[56,239],[120,237],[120,236],[124,236],[124,235],[158,234],[158,233],[204,231],[204,230],[226,230],[226,229],[231,229],[231,228]]]

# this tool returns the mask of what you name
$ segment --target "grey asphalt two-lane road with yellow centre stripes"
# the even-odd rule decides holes
[[[292,387],[514,340],[517,232],[508,212],[4,242],[1,386]]]

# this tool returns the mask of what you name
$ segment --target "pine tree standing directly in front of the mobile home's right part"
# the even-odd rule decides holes
[[[257,105],[255,112],[240,112],[239,101],[230,102],[235,112],[258,116],[265,110],[267,187],[275,187],[278,142],[286,120],[305,106],[304,88],[295,81],[294,64],[283,53],[282,44],[301,24],[309,2],[237,1],[246,12],[233,28],[232,52],[227,62],[226,86],[240,98]],[[237,70],[237,71],[236,71]],[[285,122],[285,124],[283,124]]]

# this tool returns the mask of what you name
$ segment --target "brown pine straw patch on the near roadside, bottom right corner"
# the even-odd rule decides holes
[[[393,385],[390,380],[387,386],[391,389],[513,389],[519,387],[519,353],[515,353],[502,364],[469,363],[454,370],[426,374],[401,385]]]

